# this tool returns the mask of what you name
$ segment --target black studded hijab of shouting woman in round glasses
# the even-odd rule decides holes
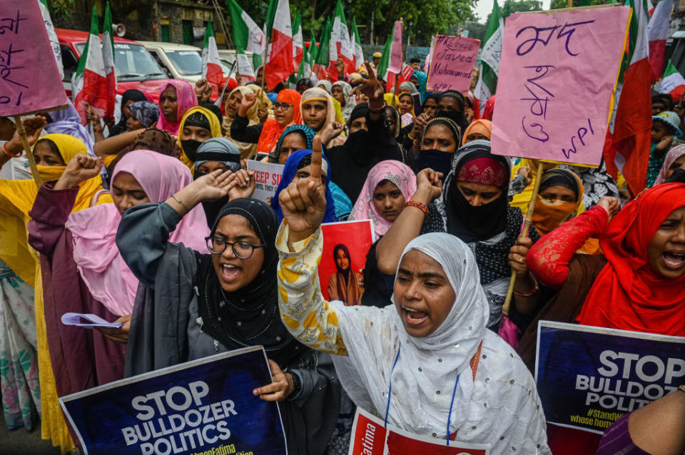
[[[231,214],[242,216],[252,225],[265,245],[264,262],[252,282],[235,292],[225,292],[216,276],[212,256],[201,255],[196,285],[202,330],[228,349],[260,344],[268,357],[284,368],[300,354],[303,345],[290,335],[278,310],[278,251],[275,247],[278,218],[267,203],[235,199],[219,211],[212,234],[221,218]]]

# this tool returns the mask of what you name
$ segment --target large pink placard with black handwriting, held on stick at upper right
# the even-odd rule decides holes
[[[509,16],[492,153],[599,165],[629,13],[604,6]]]

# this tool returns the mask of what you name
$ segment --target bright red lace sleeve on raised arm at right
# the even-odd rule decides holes
[[[526,260],[543,285],[558,290],[569,275],[569,262],[589,237],[607,229],[607,210],[593,207],[549,232],[530,248]]]

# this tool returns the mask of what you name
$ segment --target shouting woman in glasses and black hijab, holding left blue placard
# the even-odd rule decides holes
[[[290,454],[324,454],[338,419],[340,382],[332,359],[297,342],[278,312],[278,218],[238,173],[215,170],[158,204],[121,220],[116,243],[140,280],[131,316],[126,376],[262,345],[273,382],[253,393],[280,402]],[[230,201],[206,237],[208,252],[169,242],[203,200]]]

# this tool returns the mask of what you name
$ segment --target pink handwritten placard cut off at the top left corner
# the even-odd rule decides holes
[[[67,103],[43,16],[35,0],[0,1],[0,116]]]

